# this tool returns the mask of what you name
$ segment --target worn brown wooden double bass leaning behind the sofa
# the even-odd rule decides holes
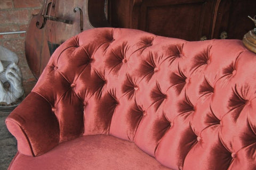
[[[26,33],[25,55],[38,79],[52,53],[65,40],[86,29],[109,27],[108,0],[45,0]]]

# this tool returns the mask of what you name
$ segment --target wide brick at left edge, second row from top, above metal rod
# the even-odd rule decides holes
[[[30,14],[27,9],[0,11],[0,24],[28,24]]]

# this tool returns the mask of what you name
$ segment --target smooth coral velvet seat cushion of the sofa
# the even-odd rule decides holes
[[[134,143],[111,135],[89,135],[63,142],[44,155],[18,154],[10,169],[169,169]]]

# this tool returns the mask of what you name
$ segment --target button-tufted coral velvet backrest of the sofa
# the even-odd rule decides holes
[[[60,142],[110,134],[172,169],[256,168],[256,55],[240,40],[97,28],[53,54],[33,92]]]

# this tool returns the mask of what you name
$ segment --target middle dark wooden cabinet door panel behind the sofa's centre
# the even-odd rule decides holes
[[[186,40],[209,38],[214,3],[212,0],[143,1],[138,29]]]

